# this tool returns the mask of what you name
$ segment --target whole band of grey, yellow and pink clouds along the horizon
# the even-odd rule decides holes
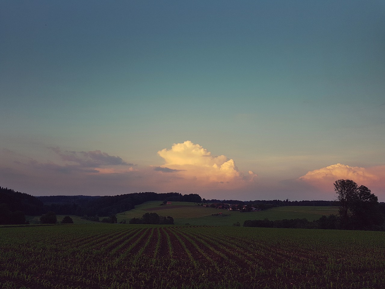
[[[385,166],[362,168],[337,163],[282,180],[240,171],[233,159],[212,155],[192,141],[159,150],[157,154],[164,160],[161,166],[134,165],[100,150],[42,149],[43,158],[0,150],[0,185],[33,195],[180,192],[239,200],[333,200],[333,183],[352,179],[370,188],[380,201],[385,200]]]

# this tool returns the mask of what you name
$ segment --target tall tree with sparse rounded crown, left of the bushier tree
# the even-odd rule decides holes
[[[334,190],[338,194],[337,201],[340,202],[340,217],[343,229],[349,227],[350,208],[357,199],[358,185],[352,180],[336,180]]]

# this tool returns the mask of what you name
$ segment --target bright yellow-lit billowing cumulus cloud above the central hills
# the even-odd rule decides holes
[[[200,183],[239,183],[254,180],[256,174],[252,171],[245,176],[239,172],[233,159],[224,155],[213,156],[211,152],[191,141],[173,144],[171,149],[158,151],[166,162],[161,168],[168,172],[178,172],[187,179]]]

